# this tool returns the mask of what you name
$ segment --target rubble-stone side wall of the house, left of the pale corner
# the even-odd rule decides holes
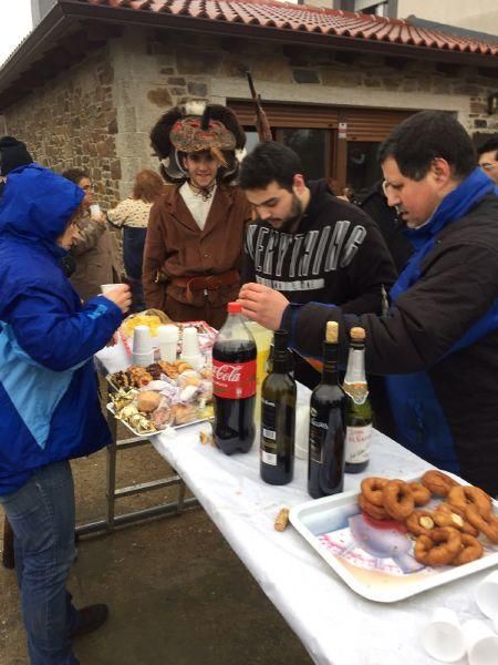
[[[108,48],[101,49],[6,112],[8,133],[38,162],[59,173],[87,171],[104,207],[118,201],[122,177],[113,79]]]

